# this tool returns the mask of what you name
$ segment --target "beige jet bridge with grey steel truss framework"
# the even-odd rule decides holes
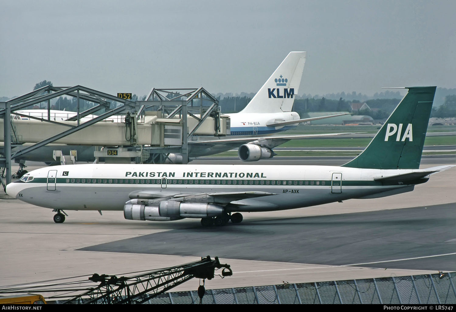
[[[128,161],[132,156],[147,161],[149,150],[154,155],[163,155],[160,157],[163,161],[169,159],[170,153],[181,153],[186,155],[183,162],[187,163],[187,140],[184,138],[194,134],[224,135],[226,128],[220,125],[226,125],[227,118],[220,122],[218,101],[204,88],[172,90],[186,92],[178,94],[178,91],[172,91],[170,94],[176,96],[163,97],[157,95],[160,94],[159,89],[152,89],[146,101],[132,101],[79,85],[46,86],[0,102],[0,140],[4,142],[3,151],[0,151],[0,168],[6,168],[6,184],[11,180],[13,159],[24,166],[23,161],[20,162],[21,156],[50,143],[106,147],[98,151],[98,156],[116,149],[117,152],[105,155],[112,159],[122,157],[125,151],[124,158]],[[76,112],[66,120],[53,120],[51,100],[61,96],[70,96],[75,100]],[[42,103],[47,107],[47,114],[41,118],[17,112]],[[155,113],[151,112],[153,108],[156,108]],[[109,119],[119,114],[122,114],[124,122],[116,123]],[[18,116],[26,120],[18,120]],[[83,118],[86,121],[83,122]],[[25,143],[33,145],[24,146]],[[11,152],[15,147],[17,149]],[[5,186],[1,177],[0,182]]]

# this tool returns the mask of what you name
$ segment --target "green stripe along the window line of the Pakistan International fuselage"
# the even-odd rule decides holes
[[[109,185],[256,185],[256,186],[283,186],[283,187],[298,187],[298,186],[331,186],[331,180],[249,180],[249,179],[163,179],[166,182],[162,183],[162,179],[93,179],[93,178],[57,178],[57,183],[60,184],[109,184]],[[31,182],[31,181],[29,181]],[[47,178],[34,178],[33,183],[47,183]],[[338,181],[337,181],[338,182]],[[409,181],[408,184],[423,183],[422,179]],[[28,183],[28,182],[26,182]],[[52,183],[52,182],[51,182]],[[379,181],[347,181],[342,180],[342,186],[346,187],[371,187],[371,186],[394,186],[402,185],[399,182],[379,182]]]

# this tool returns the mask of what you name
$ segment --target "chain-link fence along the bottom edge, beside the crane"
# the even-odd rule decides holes
[[[206,290],[203,304],[456,303],[456,272]],[[146,303],[200,303],[197,291],[168,292]]]

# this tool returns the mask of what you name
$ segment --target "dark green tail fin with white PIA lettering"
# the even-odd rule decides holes
[[[352,168],[418,169],[436,87],[410,87],[368,147],[342,165]]]

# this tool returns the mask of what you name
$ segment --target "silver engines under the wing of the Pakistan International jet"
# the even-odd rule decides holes
[[[148,205],[150,200],[132,199],[124,206],[127,220],[173,221],[182,218],[210,218],[223,213],[223,207],[208,203],[182,203],[162,201],[158,205]]]

